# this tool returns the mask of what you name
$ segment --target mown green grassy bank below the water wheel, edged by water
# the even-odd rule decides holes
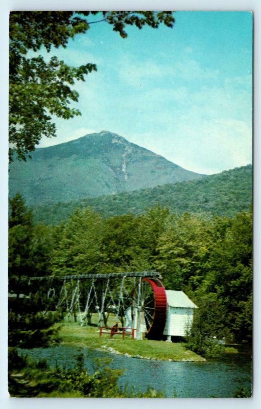
[[[146,338],[137,340],[131,339],[130,336],[123,339],[122,335],[114,335],[113,338],[110,338],[109,334],[103,334],[100,337],[98,327],[80,327],[79,323],[65,323],[60,330],[60,336],[64,345],[101,349],[137,358],[195,362],[205,360],[196,353],[187,350],[185,343],[169,343]]]

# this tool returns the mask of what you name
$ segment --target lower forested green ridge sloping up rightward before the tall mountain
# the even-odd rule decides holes
[[[104,217],[110,217],[143,213],[157,203],[172,213],[209,213],[232,217],[235,213],[248,211],[252,203],[252,166],[153,189],[44,204],[36,206],[34,214],[37,221],[52,224],[66,220],[76,208],[90,206]]]

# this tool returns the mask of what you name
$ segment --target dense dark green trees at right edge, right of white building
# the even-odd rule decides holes
[[[236,214],[209,257],[204,291],[217,292],[235,337],[251,337],[252,213]]]

